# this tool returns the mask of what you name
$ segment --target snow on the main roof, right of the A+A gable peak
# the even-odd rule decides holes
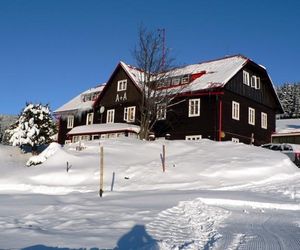
[[[171,70],[167,73],[168,77],[175,77],[180,75],[190,75],[196,73],[204,74],[190,82],[182,92],[197,91],[214,87],[223,87],[248,61],[244,56],[237,55],[225,57],[218,60],[192,64],[185,67]],[[141,83],[143,72],[133,66],[120,62],[129,76],[138,85]],[[178,86],[177,88],[182,88]],[[176,89],[176,87],[173,87]]]

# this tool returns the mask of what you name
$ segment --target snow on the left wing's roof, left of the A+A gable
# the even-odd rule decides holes
[[[54,113],[91,109],[93,106],[93,103],[94,103],[93,98],[91,100],[84,101],[84,96],[87,96],[87,95],[93,94],[93,93],[97,93],[97,92],[100,94],[101,91],[103,90],[104,86],[105,86],[105,83],[102,83],[101,85],[99,85],[95,88],[90,88],[90,89],[80,93],[79,95],[74,97],[72,100],[70,100],[69,102],[65,103],[64,105],[62,105],[61,107],[56,109],[54,111]]]

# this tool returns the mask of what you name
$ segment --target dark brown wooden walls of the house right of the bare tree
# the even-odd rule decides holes
[[[247,70],[250,77],[260,77],[259,89],[243,84],[243,70]],[[200,98],[200,116],[188,117],[188,100],[194,98]],[[232,119],[232,101],[240,105],[239,120]],[[183,94],[174,100],[177,102],[180,104],[171,105],[168,110],[166,121],[159,121],[155,126],[158,136],[170,134],[171,139],[185,139],[186,136],[201,135],[212,140],[234,138],[246,144],[261,145],[271,141],[276,112],[281,112],[267,72],[252,62],[237,72],[224,88]],[[249,107],[255,110],[254,125],[248,122]],[[267,114],[267,128],[261,126],[261,112]]]

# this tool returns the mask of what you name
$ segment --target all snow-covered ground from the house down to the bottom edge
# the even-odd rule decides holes
[[[0,146],[0,249],[300,249],[300,169],[279,152],[101,140],[100,198],[99,141],[77,146],[51,144],[31,167]]]

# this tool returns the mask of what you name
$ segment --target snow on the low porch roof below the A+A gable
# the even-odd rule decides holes
[[[91,124],[78,126],[73,128],[68,135],[76,135],[76,134],[96,134],[96,133],[109,133],[116,131],[131,131],[134,133],[140,132],[140,127],[127,124],[127,123],[103,123],[103,124]]]

